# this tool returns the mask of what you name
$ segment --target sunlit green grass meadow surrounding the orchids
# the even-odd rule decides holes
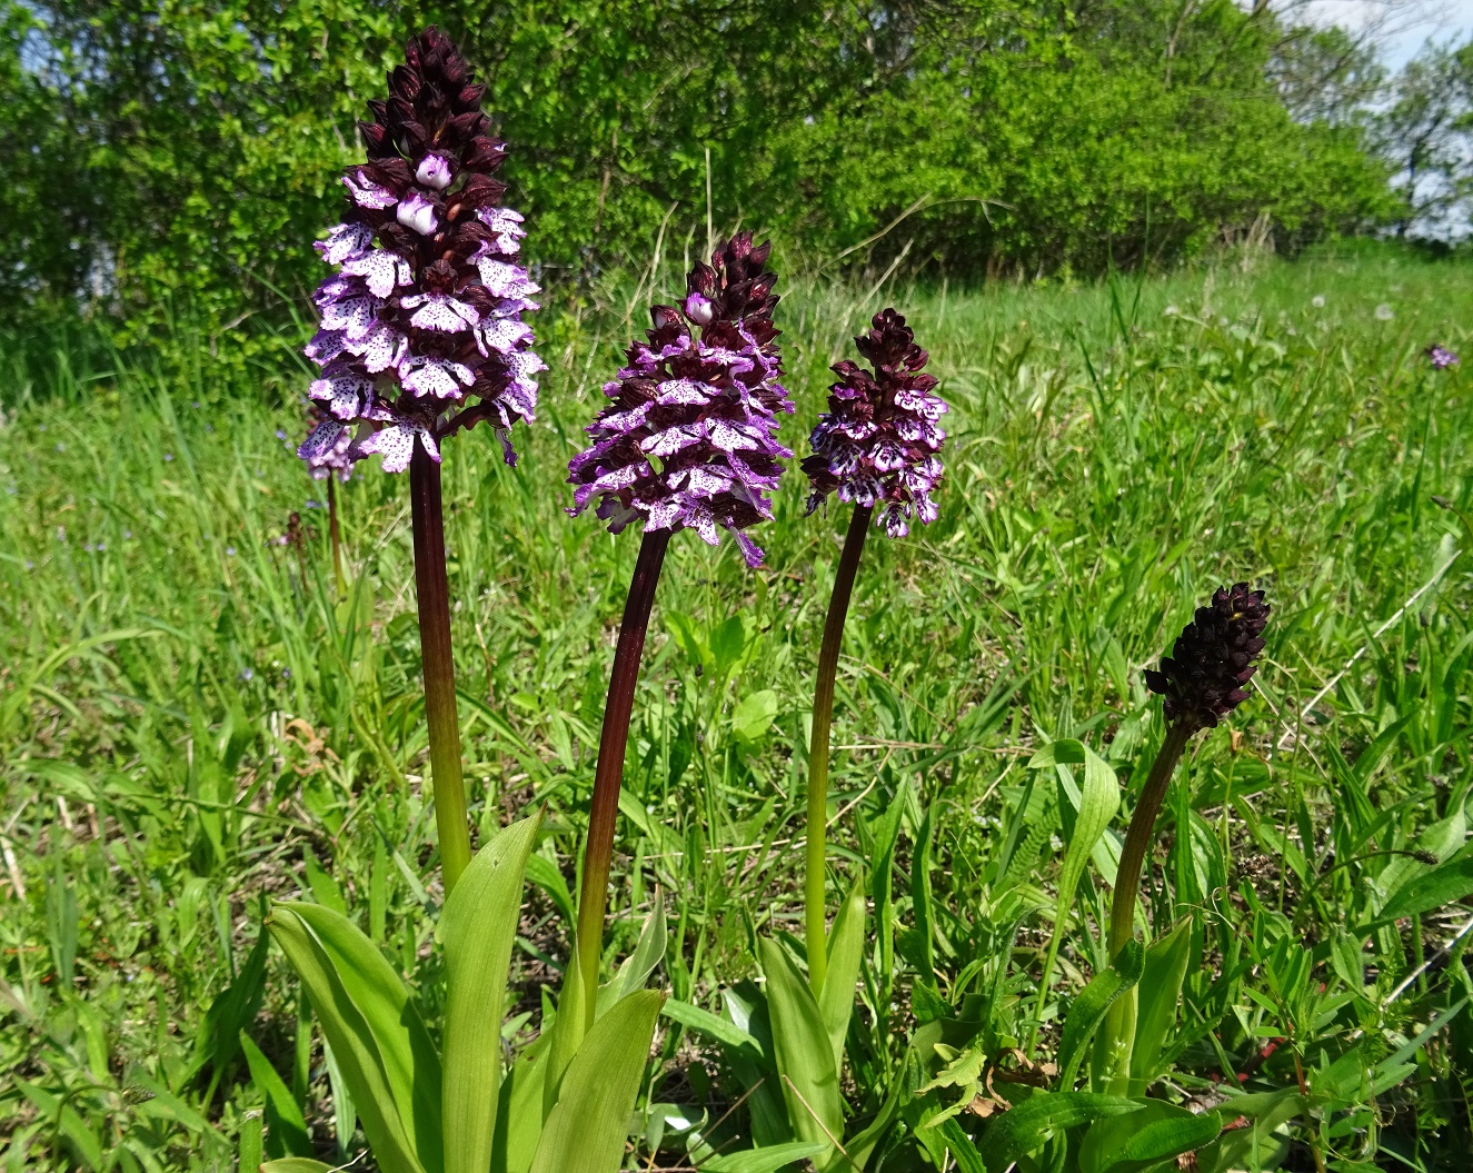
[[[673,289],[673,267],[663,279]],[[893,892],[871,909],[890,905],[899,959],[884,981],[866,968],[853,1113],[876,1111],[866,1071],[899,1060],[932,965],[947,998],[985,971],[1000,1045],[1027,1042],[1074,816],[1072,780],[1030,756],[1084,740],[1128,809],[1161,740],[1142,668],[1212,588],[1248,579],[1274,607],[1256,694],[1195,743],[1150,869],[1152,922],[1195,912],[1200,961],[1167,1092],[1308,1086],[1312,1108],[1280,1123],[1264,1167],[1466,1169],[1473,1024],[1439,1015],[1473,995],[1473,937],[1457,936],[1473,917],[1457,903],[1473,890],[1473,268],[1371,251],[1139,284],[779,289],[800,455],[828,365],[881,305],[910,317],[952,404],[941,519],[871,541],[840,670],[831,900],[903,805]],[[566,463],[644,301],[549,299],[535,324],[552,370],[520,464],[482,430],[445,461],[473,818],[485,837],[549,812],[517,1043],[567,956],[638,545],[564,514]],[[1463,368],[1435,373],[1432,342]],[[361,466],[342,491],[339,598],[323,485],[289,451],[302,416],[264,405],[305,388],[305,364],[225,365],[202,348],[193,371],[121,364],[47,393],[12,382],[0,1160],[228,1169],[261,1095],[200,1039],[268,897],[352,911],[423,990],[437,965],[407,482]],[[847,510],[804,517],[797,469],[778,497],[754,533],[762,570],[729,542],[672,544],[626,768],[610,962],[664,900],[666,984],[711,1009],[753,977],[759,933],[801,933],[806,719]],[[300,556],[280,544],[293,511],[311,528]],[[1074,905],[1040,1060],[1100,964],[1111,841]],[[1376,922],[1423,874],[1445,899]],[[1302,950],[1312,976],[1286,976]],[[351,1108],[278,955],[267,973],[247,1033],[318,1151],[346,1161],[362,1146]],[[741,1127],[741,1111],[714,1124],[734,1086],[719,1052],[664,1024],[651,1105],[720,1135]],[[632,1167],[688,1167],[678,1132],[658,1152],[645,1133]]]

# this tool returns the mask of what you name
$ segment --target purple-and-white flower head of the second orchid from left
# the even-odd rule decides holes
[[[613,401],[589,424],[592,445],[569,463],[570,513],[598,498],[614,533],[636,517],[645,529],[694,529],[716,545],[736,539],[747,563],[762,550],[742,531],[772,517],[769,494],[791,457],[778,414],[792,402],[778,382],[776,274],[769,245],[739,233],[697,264],[681,308],[651,308],[648,342],[604,385]]]

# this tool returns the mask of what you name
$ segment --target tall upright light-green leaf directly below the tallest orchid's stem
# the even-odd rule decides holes
[[[521,920],[521,884],[541,815],[482,847],[445,902],[445,1173],[486,1173],[496,1132],[507,967]]]

